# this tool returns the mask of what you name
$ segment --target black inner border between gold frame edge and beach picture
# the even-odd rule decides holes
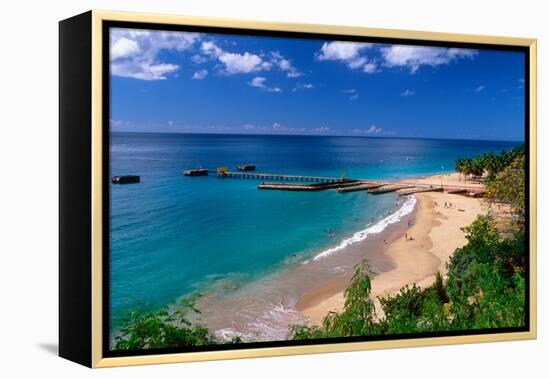
[[[356,336],[356,337],[341,337],[341,338],[329,338],[329,339],[316,339],[316,340],[283,340],[283,341],[269,341],[269,342],[253,342],[253,343],[241,343],[241,344],[222,344],[222,345],[207,345],[196,346],[189,348],[158,348],[158,349],[146,349],[146,350],[131,350],[131,351],[112,351],[109,348],[109,322],[110,322],[110,288],[109,288],[109,267],[110,267],[110,224],[109,224],[109,211],[110,211],[110,29],[111,28],[128,28],[128,29],[145,29],[145,30],[157,30],[157,31],[182,31],[182,32],[198,32],[198,33],[212,33],[212,34],[229,34],[240,36],[257,36],[257,37],[278,37],[289,39],[313,39],[313,40],[328,40],[328,41],[350,41],[350,42],[369,42],[369,43],[381,43],[381,44],[402,44],[402,45],[414,45],[414,46],[431,46],[431,47],[455,47],[455,48],[471,48],[479,50],[495,50],[495,51],[516,51],[524,54],[524,118],[525,118],[525,243],[527,255],[526,257],[526,282],[525,282],[525,325],[523,327],[509,327],[509,328],[489,328],[489,329],[476,329],[476,330],[461,330],[461,331],[449,331],[449,332],[422,332],[422,333],[407,333],[407,334],[394,334],[383,336]],[[388,37],[366,37],[356,35],[335,35],[325,33],[305,33],[305,32],[288,32],[288,31],[271,31],[271,30],[254,30],[244,28],[228,28],[228,27],[214,27],[214,26],[196,26],[196,25],[173,25],[173,24],[161,24],[161,23],[148,23],[148,22],[130,22],[130,21],[103,21],[102,22],[102,144],[103,144],[103,156],[102,156],[102,191],[103,191],[103,345],[102,352],[103,357],[128,357],[128,356],[146,356],[155,354],[173,354],[173,353],[193,353],[193,352],[205,352],[205,351],[218,351],[218,350],[237,350],[237,349],[256,349],[256,348],[271,348],[282,346],[303,346],[303,345],[327,345],[327,344],[341,344],[360,341],[380,341],[380,340],[408,340],[408,339],[424,339],[432,337],[445,337],[445,336],[466,336],[466,335],[487,335],[487,334],[502,334],[510,332],[528,332],[530,330],[530,54],[528,46],[512,46],[512,45],[498,45],[498,44],[482,44],[482,43],[469,43],[469,42],[442,42],[442,41],[428,41],[422,39],[405,39],[405,38],[388,38]],[[406,33],[406,31],[403,31]],[[292,349],[289,349],[289,354],[292,354]]]

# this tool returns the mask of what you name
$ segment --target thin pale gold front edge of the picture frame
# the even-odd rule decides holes
[[[530,56],[530,266],[529,304],[530,329],[525,332],[495,333],[482,335],[461,335],[401,340],[346,342],[303,346],[269,347],[208,352],[157,354],[130,357],[103,358],[102,344],[102,22],[128,21],[158,24],[179,24],[190,26],[212,26],[249,30],[289,31],[334,35],[355,35],[365,37],[399,38],[410,40],[463,42],[523,46],[529,48]],[[176,362],[199,362],[240,358],[304,355],[313,353],[352,352],[375,349],[426,347],[438,345],[486,343],[516,340],[532,340],[537,337],[537,40],[533,38],[501,37],[474,34],[426,32],[399,29],[366,28],[321,24],[296,24],[252,20],[236,20],[197,16],[176,16],[133,12],[92,11],[92,367],[118,367]]]

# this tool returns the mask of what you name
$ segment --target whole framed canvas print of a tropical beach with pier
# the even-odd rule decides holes
[[[536,41],[60,22],[62,357],[536,337]]]

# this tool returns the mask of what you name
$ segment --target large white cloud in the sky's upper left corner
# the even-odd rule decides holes
[[[110,38],[111,74],[139,80],[164,80],[179,69],[162,62],[161,51],[185,51],[200,39],[198,33],[113,29]]]

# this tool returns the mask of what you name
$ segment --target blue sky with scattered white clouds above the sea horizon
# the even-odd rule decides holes
[[[111,130],[523,140],[519,52],[111,29]]]

